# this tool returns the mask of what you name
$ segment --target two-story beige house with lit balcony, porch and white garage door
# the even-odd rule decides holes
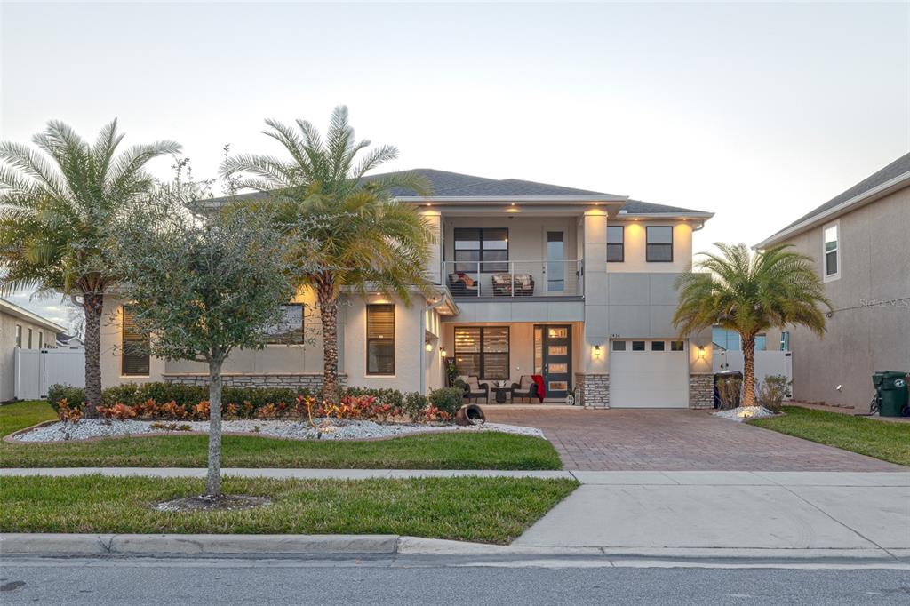
[[[711,213],[517,179],[417,172],[433,196],[396,196],[419,207],[436,236],[427,259],[436,293],[416,295],[410,308],[379,294],[345,298],[339,371],[348,385],[438,388],[445,359],[453,358],[462,374],[491,388],[541,374],[553,401],[577,388],[593,406],[712,406],[711,332],[680,338],[671,323],[673,281],[690,268],[693,231]],[[297,344],[231,354],[226,384],[319,387],[314,302],[310,292],[288,302],[281,332]],[[121,355],[123,343],[138,338],[129,307],[109,300],[106,314],[106,385],[206,382],[198,363]],[[304,344],[309,334],[315,344]]]

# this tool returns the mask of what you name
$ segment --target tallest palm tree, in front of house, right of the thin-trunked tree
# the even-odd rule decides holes
[[[410,304],[412,288],[429,292],[425,265],[433,236],[413,207],[393,200],[401,187],[425,193],[422,177],[408,173],[366,177],[398,157],[394,146],[379,146],[363,157],[370,142],[358,141],[348,108],[332,112],[323,140],[306,120],[297,128],[266,120],[264,131],[290,155],[228,158],[223,174],[235,187],[269,192],[265,204],[298,242],[289,249],[298,286],[317,297],[323,339],[323,394],[338,396],[338,301],[343,289],[397,295]],[[245,175],[244,175],[245,174]]]

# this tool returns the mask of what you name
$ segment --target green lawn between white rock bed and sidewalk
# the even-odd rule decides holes
[[[0,407],[3,435],[46,419],[44,401]],[[221,464],[248,468],[560,470],[545,439],[499,432],[427,434],[373,441],[315,442],[225,436]],[[0,467],[206,467],[207,437],[116,438],[58,444],[0,442]]]

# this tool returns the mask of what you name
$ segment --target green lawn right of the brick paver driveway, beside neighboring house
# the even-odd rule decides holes
[[[787,414],[749,421],[797,438],[910,466],[910,423],[864,419],[825,410],[785,406]]]

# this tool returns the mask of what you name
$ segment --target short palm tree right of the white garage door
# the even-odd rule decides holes
[[[702,253],[690,271],[676,279],[680,294],[673,326],[681,335],[720,326],[743,342],[743,406],[755,403],[755,337],[768,328],[802,325],[824,334],[824,312],[831,309],[812,258],[778,245],[750,255],[744,244],[717,243],[720,253]]]

